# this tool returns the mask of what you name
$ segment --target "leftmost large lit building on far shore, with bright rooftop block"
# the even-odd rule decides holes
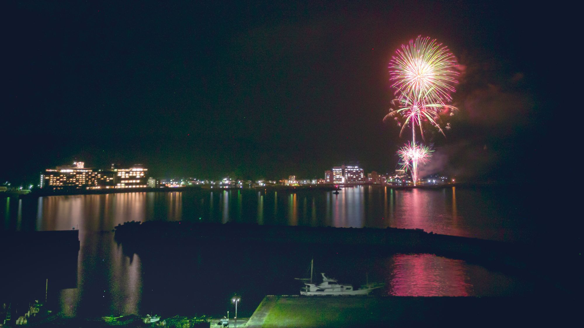
[[[41,175],[40,187],[53,190],[113,188],[113,180],[114,177],[107,172],[85,168],[84,162],[75,162],[72,166],[46,169]]]

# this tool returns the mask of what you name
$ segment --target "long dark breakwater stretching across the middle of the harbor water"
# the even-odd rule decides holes
[[[339,245],[394,253],[432,253],[439,256],[521,269],[531,262],[528,245],[437,235],[422,229],[331,228],[215,224],[204,222],[126,222],[116,226],[116,240],[141,249],[189,243],[261,243]]]

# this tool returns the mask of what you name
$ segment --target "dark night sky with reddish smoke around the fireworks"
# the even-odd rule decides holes
[[[25,1],[5,9],[0,181],[143,163],[155,177],[393,172],[388,63],[418,35],[463,69],[422,173],[522,180],[545,148],[550,34],[509,2]]]

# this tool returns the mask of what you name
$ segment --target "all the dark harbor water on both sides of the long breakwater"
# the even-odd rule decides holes
[[[185,190],[13,197],[0,204],[2,231],[79,229],[75,288],[49,288],[48,303],[64,316],[130,313],[221,315],[241,295],[249,316],[264,295],[298,294],[314,258],[321,272],[359,287],[385,282],[377,295],[530,295],[534,283],[463,260],[433,254],[354,254],[344,249],[261,249],[211,242],[201,249],[124,250],[112,229],[126,221],[249,222],[427,232],[510,242],[534,238],[527,200],[507,187],[395,190],[356,186],[330,191]],[[44,279],[39,277],[39,294]],[[24,284],[25,282],[17,282]],[[36,295],[35,295],[36,296]]]

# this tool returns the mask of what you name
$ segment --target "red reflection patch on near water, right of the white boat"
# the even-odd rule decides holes
[[[471,296],[464,261],[432,254],[396,254],[387,272],[394,296]]]

